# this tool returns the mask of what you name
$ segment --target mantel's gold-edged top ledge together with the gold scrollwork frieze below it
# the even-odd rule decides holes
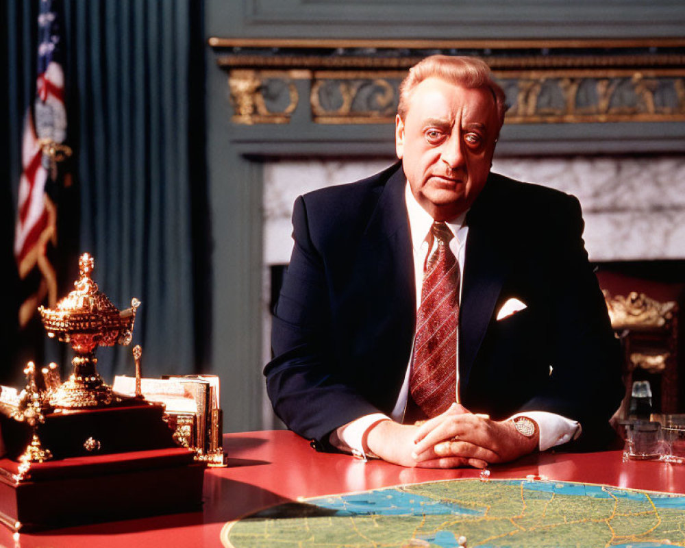
[[[685,121],[685,40],[211,38],[210,45],[229,73],[239,124],[289,123],[297,108],[320,124],[392,123],[407,69],[438,51],[488,62],[506,90],[508,123]]]

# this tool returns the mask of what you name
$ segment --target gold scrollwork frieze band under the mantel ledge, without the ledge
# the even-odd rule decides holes
[[[229,79],[234,122],[288,123],[299,94],[290,76],[269,77],[261,71],[236,71]],[[501,77],[510,103],[507,123],[592,123],[685,120],[685,77],[645,77],[586,73],[571,77],[521,74]],[[397,108],[397,75],[314,75],[310,84],[311,119],[315,123],[392,123]],[[280,101],[286,106],[267,104]]]

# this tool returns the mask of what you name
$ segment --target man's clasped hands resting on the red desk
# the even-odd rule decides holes
[[[483,469],[532,453],[538,436],[527,438],[510,420],[493,421],[453,403],[421,424],[376,423],[367,433],[366,445],[383,460],[402,466]]]

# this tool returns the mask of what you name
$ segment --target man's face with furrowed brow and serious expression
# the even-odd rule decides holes
[[[412,90],[405,119],[395,127],[397,158],[412,194],[436,221],[471,207],[485,186],[499,132],[488,88],[425,79]]]

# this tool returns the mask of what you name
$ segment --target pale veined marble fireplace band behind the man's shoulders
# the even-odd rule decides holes
[[[356,181],[393,162],[277,160],[264,166],[264,264],[290,259],[298,195]],[[575,195],[593,261],[685,259],[685,155],[502,158],[493,171]]]

